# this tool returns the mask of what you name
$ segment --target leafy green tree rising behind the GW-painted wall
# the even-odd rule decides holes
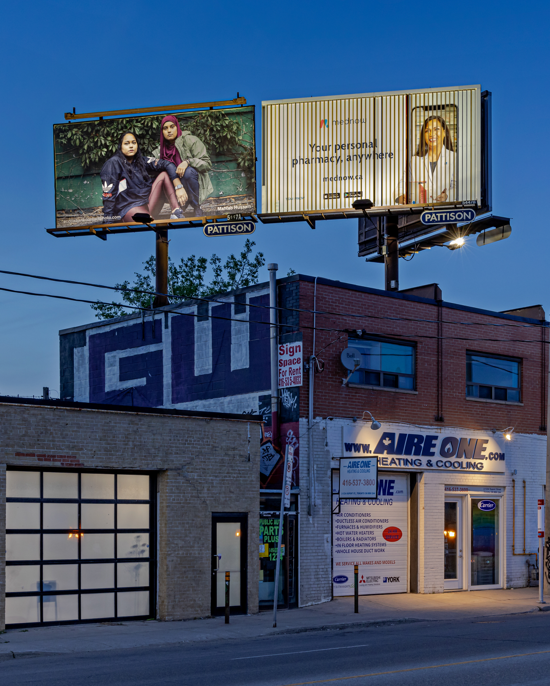
[[[187,259],[180,259],[179,264],[174,264],[168,259],[168,290],[171,303],[179,303],[191,298],[204,298],[215,293],[224,293],[237,288],[246,288],[258,283],[259,270],[265,265],[263,252],[252,256],[252,248],[256,243],[246,239],[240,257],[230,255],[222,266],[222,258],[215,253],[208,260],[206,257],[191,255]],[[213,279],[205,283],[208,264],[213,270]],[[145,268],[143,274],[134,272],[136,278],[130,286],[130,281],[115,284],[122,296],[124,303],[132,307],[151,307],[154,296],[135,291],[154,292],[155,259],[154,256],[143,262]],[[132,314],[127,308],[121,307],[114,301],[108,305],[95,303],[91,308],[96,312],[98,319],[112,319]],[[134,310],[138,311],[138,310]]]

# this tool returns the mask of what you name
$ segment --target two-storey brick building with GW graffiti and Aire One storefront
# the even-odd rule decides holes
[[[265,283],[160,309],[154,326],[150,317],[128,316],[61,331],[63,397],[264,419],[260,606],[274,596],[275,558],[265,543],[274,543],[278,525],[287,443],[295,457],[281,606],[349,592],[342,567],[354,556],[366,571],[383,570],[363,575],[362,593],[527,584],[545,483],[542,308],[447,303],[435,284],[385,292],[302,274],[277,283],[280,342],[302,341],[305,367],[303,385],[280,392],[278,436],[270,422]],[[357,359],[355,372],[342,363],[344,350]],[[368,413],[381,427],[370,428]],[[377,458],[379,493],[335,512],[339,459],[358,450],[362,459]],[[384,510],[390,507],[395,514]],[[375,520],[389,526],[379,530]],[[366,535],[342,540],[356,524]]]

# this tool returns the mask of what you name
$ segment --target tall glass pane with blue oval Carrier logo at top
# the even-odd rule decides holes
[[[471,499],[471,585],[499,583],[499,500]]]

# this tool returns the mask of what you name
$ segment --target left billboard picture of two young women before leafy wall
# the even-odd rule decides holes
[[[254,106],[53,126],[56,228],[256,213]]]

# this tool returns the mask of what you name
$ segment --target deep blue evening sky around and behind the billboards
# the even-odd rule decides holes
[[[549,3],[29,0],[6,3],[2,19],[1,269],[112,285],[131,280],[154,251],[149,233],[100,241],[45,232],[54,226],[51,127],[73,106],[117,110],[230,99],[237,91],[259,106],[481,83],[492,91],[493,211],[513,217],[512,236],[483,248],[470,238],[463,250],[400,260],[400,287],[435,281],[451,302],[494,310],[541,303],[549,312]],[[278,262],[282,276],[293,268],[383,288],[383,265],[357,257],[357,221],[317,226],[259,225],[256,249],[266,263]],[[170,236],[178,260],[214,250],[226,257],[244,243],[200,230]],[[3,274],[0,286],[106,294]],[[83,303],[0,292],[0,394],[49,386],[56,395],[58,330],[94,319]]]

